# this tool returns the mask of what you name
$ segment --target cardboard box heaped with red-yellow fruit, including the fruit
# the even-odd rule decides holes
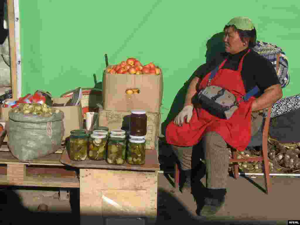
[[[128,58],[120,64],[109,65],[102,82],[104,110],[160,112],[163,75],[153,62],[143,65],[136,58]]]

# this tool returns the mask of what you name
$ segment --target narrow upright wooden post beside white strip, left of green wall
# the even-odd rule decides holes
[[[13,0],[7,0],[7,16],[9,30],[9,54],[10,54],[10,74],[11,74],[11,89],[13,98],[17,98],[17,67],[16,67],[16,42],[15,42],[15,12]]]

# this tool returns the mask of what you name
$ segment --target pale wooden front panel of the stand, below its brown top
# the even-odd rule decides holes
[[[158,173],[80,169],[81,224],[104,224],[107,217],[157,217]]]

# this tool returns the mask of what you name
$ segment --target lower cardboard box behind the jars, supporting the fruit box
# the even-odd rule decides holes
[[[130,127],[130,114],[131,112],[128,111],[99,110],[99,126],[108,127],[110,130],[121,128],[128,131]],[[146,148],[154,149],[158,145],[161,114],[148,112],[146,115]]]

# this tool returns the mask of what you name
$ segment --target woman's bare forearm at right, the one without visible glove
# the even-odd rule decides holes
[[[252,112],[269,108],[280,98],[282,98],[280,84],[272,85],[265,89],[264,93],[253,101]]]

